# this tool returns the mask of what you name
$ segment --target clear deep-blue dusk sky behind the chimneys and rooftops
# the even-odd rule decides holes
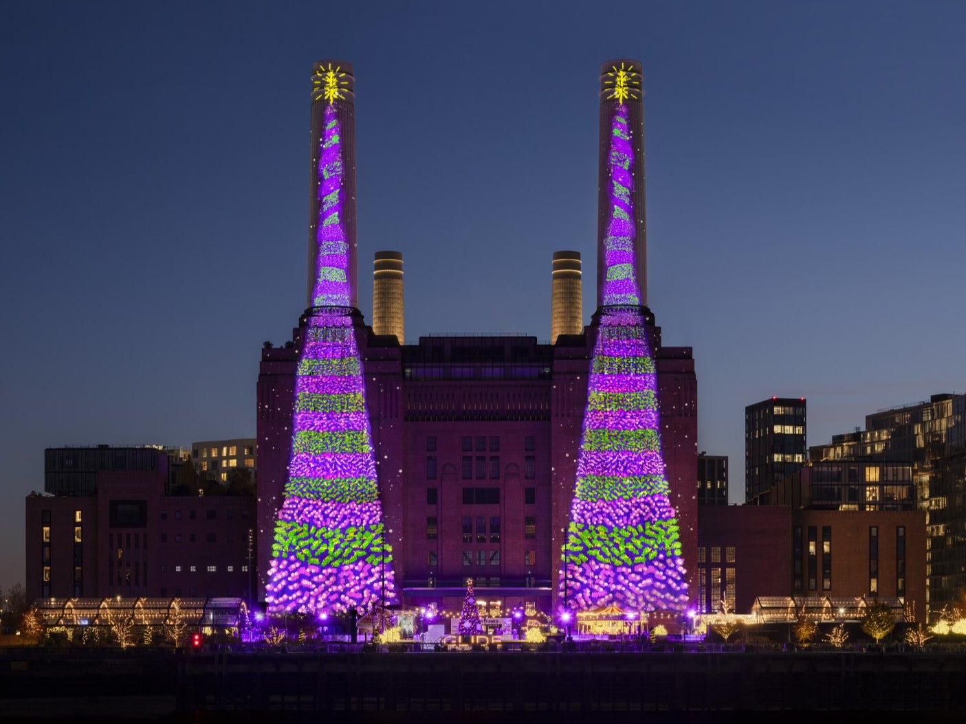
[[[694,348],[698,449],[744,496],[744,409],[808,442],[966,390],[966,3],[0,4],[0,585],[43,449],[255,434],[305,307],[309,74],[355,67],[360,306],[406,336],[550,338],[595,303],[598,73],[638,59],[649,306]]]

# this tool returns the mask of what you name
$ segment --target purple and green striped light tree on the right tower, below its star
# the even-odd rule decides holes
[[[627,107],[611,122],[607,275],[587,382],[577,486],[560,573],[567,609],[678,609],[687,583],[670,505],[657,375],[639,306],[634,151]]]

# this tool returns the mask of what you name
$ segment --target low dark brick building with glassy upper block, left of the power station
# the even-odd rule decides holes
[[[26,499],[28,599],[251,600],[254,496],[169,494],[186,456],[159,447],[49,448],[44,459],[47,487]]]

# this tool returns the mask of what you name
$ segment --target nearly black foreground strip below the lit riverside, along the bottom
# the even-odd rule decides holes
[[[959,720],[966,655],[0,652],[0,715],[35,721],[300,721],[321,711],[388,722],[720,721],[728,710]]]

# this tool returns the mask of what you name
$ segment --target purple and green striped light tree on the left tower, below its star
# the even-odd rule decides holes
[[[361,612],[396,599],[349,308],[349,247],[340,216],[348,189],[333,105],[338,96],[327,99],[315,306],[298,356],[289,477],[266,585],[270,613]]]

